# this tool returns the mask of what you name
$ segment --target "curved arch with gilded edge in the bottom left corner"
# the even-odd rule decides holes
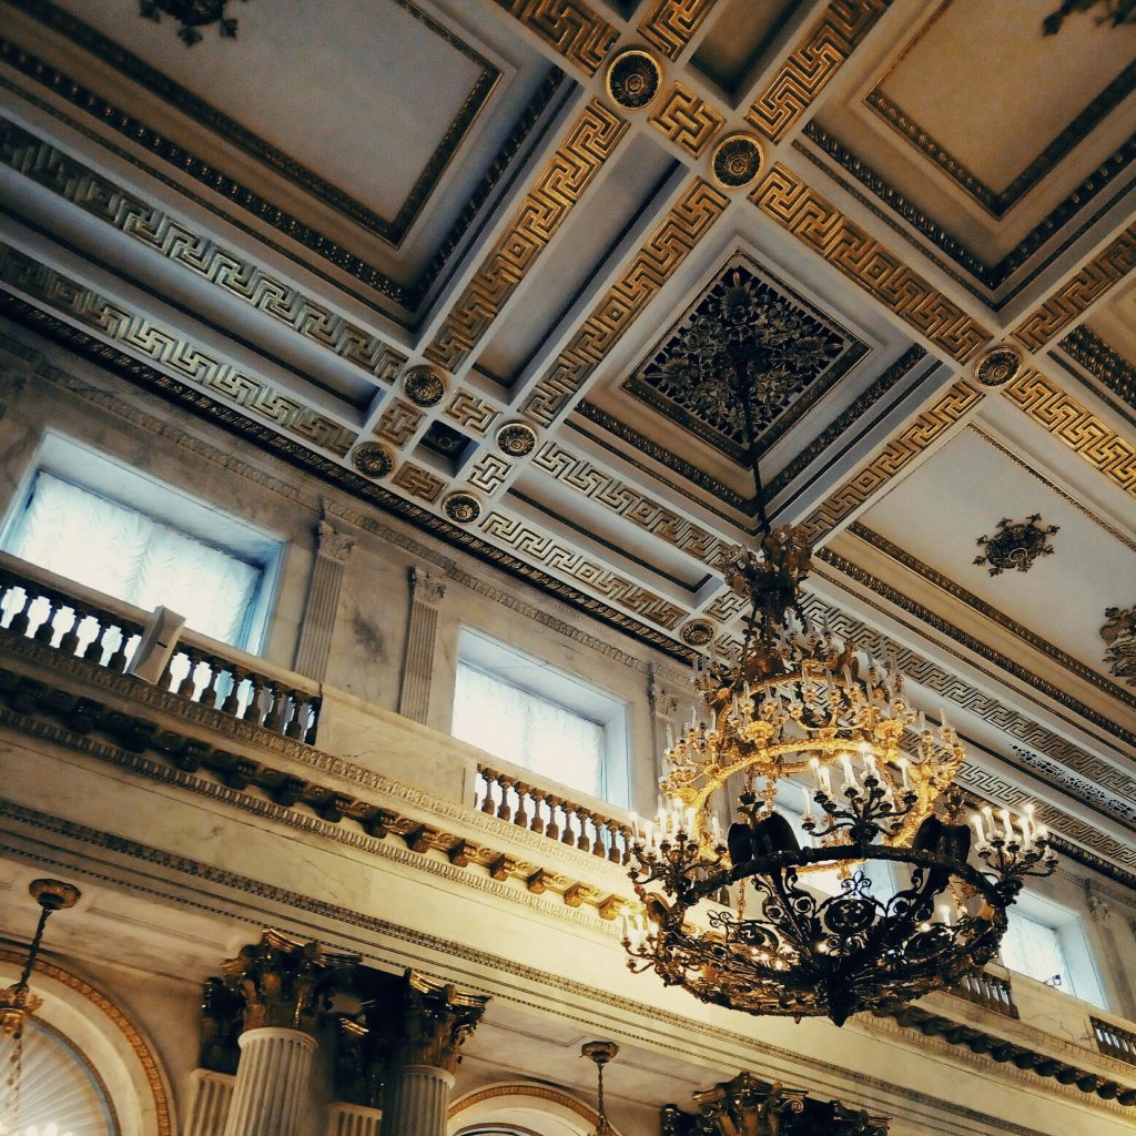
[[[0,945],[0,986],[19,977],[25,958],[23,951]],[[34,1020],[66,1038],[98,1070],[122,1136],[175,1136],[166,1076],[123,1010],[78,975],[42,957],[30,984],[43,999]]]

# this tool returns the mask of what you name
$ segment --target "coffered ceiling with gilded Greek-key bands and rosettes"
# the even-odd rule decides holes
[[[686,657],[755,528],[744,310],[813,611],[1136,883],[1136,26],[249,0],[187,45],[0,3],[9,318]]]

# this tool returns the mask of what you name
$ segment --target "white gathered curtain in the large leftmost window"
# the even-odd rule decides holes
[[[237,645],[261,576],[228,552],[42,471],[9,551],[135,607],[165,604],[194,630]]]

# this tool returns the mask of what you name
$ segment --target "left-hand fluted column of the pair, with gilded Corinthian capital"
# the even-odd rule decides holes
[[[358,955],[267,930],[224,964],[224,985],[244,1000],[224,1136],[298,1136],[310,1104],[320,1002],[357,963]]]

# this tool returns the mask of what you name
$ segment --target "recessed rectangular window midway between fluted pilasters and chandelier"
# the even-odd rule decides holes
[[[459,641],[454,737],[537,777],[625,805],[627,707],[469,628]]]

